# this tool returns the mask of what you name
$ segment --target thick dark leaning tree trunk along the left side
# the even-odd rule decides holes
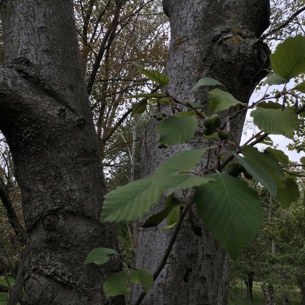
[[[117,248],[99,222],[105,186],[81,69],[72,0],[4,0],[0,129],[21,188],[29,305],[123,304],[104,279],[119,261],[85,266],[97,247]],[[113,302],[114,301],[114,302]]]

